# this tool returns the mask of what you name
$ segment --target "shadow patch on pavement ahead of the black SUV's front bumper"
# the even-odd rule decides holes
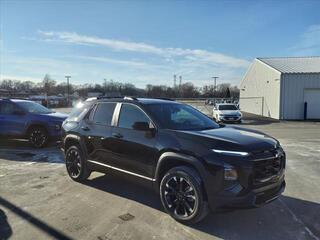
[[[193,226],[222,239],[319,239],[320,204],[282,196],[256,209],[213,213]]]

